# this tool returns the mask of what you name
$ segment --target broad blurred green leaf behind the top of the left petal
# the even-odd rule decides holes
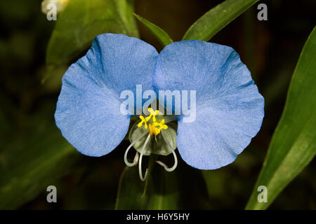
[[[98,34],[138,36],[131,0],[72,0],[58,16],[46,52],[46,64],[66,64]]]

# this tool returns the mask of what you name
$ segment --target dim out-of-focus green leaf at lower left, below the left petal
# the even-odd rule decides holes
[[[48,186],[58,188],[58,179],[78,160],[79,153],[62,138],[53,119],[47,122],[48,114],[53,118],[54,107],[49,107],[34,118],[19,114],[22,127],[9,144],[1,144],[0,209],[17,209],[40,193],[46,195]]]

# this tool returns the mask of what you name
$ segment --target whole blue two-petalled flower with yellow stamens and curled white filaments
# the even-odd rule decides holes
[[[129,166],[139,162],[142,180],[147,175],[142,174],[143,155],[172,153],[173,167],[157,161],[172,171],[178,148],[192,167],[218,169],[233,162],[260,130],[264,99],[232,48],[180,41],[158,54],[137,38],[101,34],[62,78],[55,121],[63,137],[85,155],[110,153],[129,130],[131,115],[121,113],[120,94],[131,90],[137,95],[136,85],[154,90],[156,95],[163,90],[196,92],[196,118],[192,122],[185,121],[187,114],[170,116],[150,108],[149,116],[139,116],[139,122],[131,127],[131,145],[124,160]],[[143,99],[140,104],[145,106]],[[137,152],[129,162],[127,153],[132,146]]]

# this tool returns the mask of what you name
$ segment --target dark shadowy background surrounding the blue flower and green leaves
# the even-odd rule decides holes
[[[180,41],[195,20],[220,2],[136,0],[136,13],[162,27],[174,41]],[[243,209],[254,188],[282,114],[296,62],[316,24],[316,1],[274,0],[262,3],[268,5],[268,21],[257,20],[256,3],[211,41],[235,48],[249,67],[265,98],[263,126],[232,165],[200,172],[183,160],[179,161],[176,174],[190,189],[182,202],[184,209]],[[1,151],[12,142],[24,146],[22,135],[25,132],[32,136],[32,130],[25,127],[32,123],[32,127],[37,129],[41,123],[53,123],[61,80],[57,77],[55,82],[41,85],[41,78],[45,70],[46,47],[55,24],[46,20],[40,6],[40,0],[0,1],[0,168],[5,162]],[[138,27],[140,38],[162,50],[143,25],[138,23]],[[77,153],[79,160],[55,183],[58,187],[57,204],[46,202],[46,189],[43,189],[34,200],[20,208],[113,209],[127,146],[129,142],[124,141],[102,158],[89,158]],[[277,197],[270,209],[316,209],[315,170],[313,160]]]

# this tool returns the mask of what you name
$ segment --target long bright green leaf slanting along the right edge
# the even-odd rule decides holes
[[[316,28],[296,64],[287,102],[246,209],[267,209],[316,153]],[[268,188],[268,202],[257,200],[258,186]]]

